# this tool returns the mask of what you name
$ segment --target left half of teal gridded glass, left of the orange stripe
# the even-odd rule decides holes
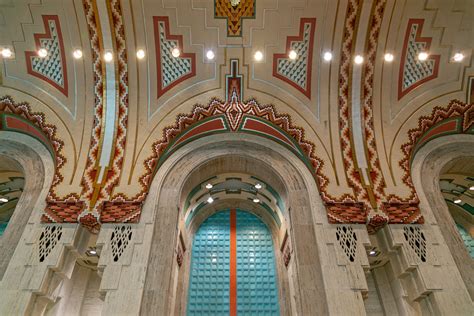
[[[229,315],[230,211],[206,219],[194,236],[188,315]]]

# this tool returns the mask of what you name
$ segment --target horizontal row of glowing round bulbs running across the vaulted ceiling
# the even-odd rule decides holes
[[[48,51],[45,49],[45,48],[40,48],[38,51],[37,51],[37,54],[39,57],[41,58],[45,58],[46,56],[48,56]],[[13,56],[13,52],[10,48],[3,48],[2,51],[1,51],[1,55],[3,58],[11,58]],[[75,59],[81,59],[83,54],[82,54],[82,50],[80,49],[75,49],[73,52],[72,52],[72,55],[74,56]],[[139,49],[137,50],[137,58],[138,59],[143,59],[145,58],[145,51],[143,49]],[[178,58],[180,55],[181,55],[181,50],[178,48],[178,47],[174,47],[172,50],[171,50],[171,55],[175,58]],[[208,60],[213,60],[214,58],[216,57],[214,51],[212,50],[208,50],[206,52],[206,58]],[[262,61],[263,60],[263,53],[261,51],[256,51],[253,55],[254,59],[256,61]],[[430,57],[429,53],[428,52],[420,52],[418,53],[418,60],[419,61],[426,61],[428,60],[428,58]],[[455,61],[455,62],[461,62],[463,59],[464,59],[464,55],[462,53],[455,53],[452,57],[452,60]],[[298,53],[295,51],[295,50],[290,50],[288,52],[288,58],[291,59],[291,60],[296,60],[298,58]],[[327,52],[324,52],[323,53],[323,59],[327,62],[331,61],[333,58],[333,55],[331,52],[327,51]],[[104,60],[106,62],[111,62],[112,60],[114,59],[114,55],[112,54],[112,52],[110,51],[106,51],[104,53]],[[386,53],[384,55],[384,60],[386,62],[392,62],[393,60],[395,59],[395,56],[391,53]],[[354,63],[360,65],[364,62],[364,57],[362,55],[356,55],[354,57]]]

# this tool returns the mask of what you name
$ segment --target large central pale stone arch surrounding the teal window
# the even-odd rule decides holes
[[[316,247],[306,246],[317,244],[313,214],[325,218],[326,213],[321,199],[314,194],[317,192],[317,186],[306,166],[295,155],[275,146],[271,141],[249,135],[243,138],[238,133],[204,137],[182,149],[171,155],[160,167],[144,206],[144,212],[148,205],[155,209],[155,236],[150,249],[141,312],[169,314],[175,310],[173,303],[178,300],[179,295],[176,295],[176,285],[173,282],[178,273],[174,251],[181,216],[177,212],[181,190],[193,170],[207,161],[221,159],[215,172],[232,171],[229,167],[233,167],[234,171],[257,172],[259,177],[267,180],[257,169],[260,166],[266,166],[267,169],[271,166],[270,169],[284,180],[288,191],[288,204],[291,205],[289,232],[294,251],[293,262],[296,262],[294,288],[298,293],[295,293],[297,302],[294,309],[301,314],[326,313],[327,302],[319,253]],[[237,157],[245,157],[247,160]],[[232,163],[237,165],[230,166]],[[220,168],[222,169],[219,170]],[[156,273],[157,268],[159,273]],[[165,275],[169,278],[163,278]],[[315,293],[319,295],[314,295]]]

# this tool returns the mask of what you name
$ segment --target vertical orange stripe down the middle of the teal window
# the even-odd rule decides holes
[[[230,316],[237,315],[237,212],[230,210]]]

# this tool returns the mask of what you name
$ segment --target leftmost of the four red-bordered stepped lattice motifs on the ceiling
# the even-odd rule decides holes
[[[68,96],[68,81],[64,43],[57,15],[43,15],[45,34],[34,34],[36,49],[46,49],[48,55],[39,57],[36,51],[25,52],[30,75],[44,80]]]

